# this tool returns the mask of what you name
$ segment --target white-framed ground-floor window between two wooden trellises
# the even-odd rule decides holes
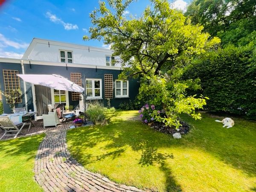
[[[102,99],[102,80],[86,79],[86,95],[88,99]]]

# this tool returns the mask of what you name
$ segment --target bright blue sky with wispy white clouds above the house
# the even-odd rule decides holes
[[[170,1],[183,12],[189,2]],[[137,0],[125,14],[140,16],[150,4]],[[90,35],[89,14],[95,8],[98,0],[0,0],[0,57],[21,58],[33,38],[108,48],[102,41],[82,40]]]

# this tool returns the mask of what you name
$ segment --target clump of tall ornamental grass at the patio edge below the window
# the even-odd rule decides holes
[[[93,101],[88,105],[86,114],[94,125],[96,123],[103,122],[105,119],[104,106],[99,101]]]

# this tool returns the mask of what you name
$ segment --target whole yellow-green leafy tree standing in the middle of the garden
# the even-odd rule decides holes
[[[181,82],[179,76],[190,60],[204,55],[220,40],[202,32],[203,27],[192,25],[182,12],[171,9],[167,0],[151,0],[140,17],[126,17],[124,12],[132,0],[100,2],[99,9],[90,14],[93,27],[90,37],[110,44],[113,55],[119,56],[123,73],[119,78],[142,77],[139,98],[162,105],[166,116],[154,117],[180,126],[179,113],[200,119],[195,109],[203,108],[204,98],[186,96],[188,87],[198,87],[192,81]]]

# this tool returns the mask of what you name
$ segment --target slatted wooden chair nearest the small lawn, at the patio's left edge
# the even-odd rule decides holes
[[[17,119],[19,117],[21,116],[17,116]],[[20,121],[21,121],[21,118],[20,118]],[[14,138],[16,138],[25,125],[26,125],[25,122],[12,122],[10,116],[0,116],[0,126],[5,131],[1,139],[5,136],[12,136],[12,135],[14,135]]]

